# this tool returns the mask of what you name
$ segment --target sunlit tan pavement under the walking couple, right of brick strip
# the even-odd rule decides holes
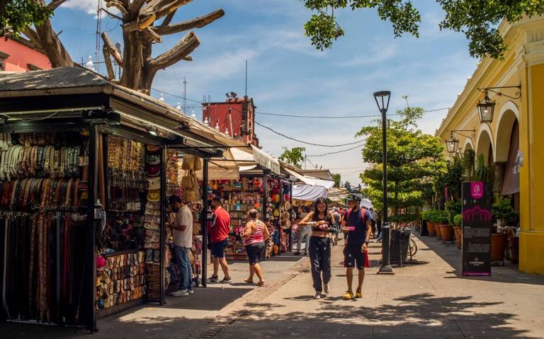
[[[443,260],[460,260],[453,245],[428,237],[417,245],[421,264],[376,275],[380,245],[371,243],[372,267],[355,301],[341,299],[345,273],[335,246],[330,297],[313,300],[310,274],[298,275],[246,304],[217,338],[544,338],[544,277],[494,268],[492,277],[465,279]]]

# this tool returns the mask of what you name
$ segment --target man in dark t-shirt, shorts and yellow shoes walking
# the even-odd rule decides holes
[[[364,207],[360,206],[361,197],[352,195],[349,201],[350,209],[346,213],[343,229],[348,231],[346,247],[344,247],[344,267],[348,291],[344,294],[344,300],[362,298],[363,280],[365,279],[365,259],[368,251],[368,239],[372,231],[372,216]],[[358,286],[353,294],[353,268],[358,270]]]

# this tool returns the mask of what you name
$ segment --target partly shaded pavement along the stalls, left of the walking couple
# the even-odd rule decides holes
[[[98,319],[98,333],[89,338],[191,338],[217,331],[215,319],[225,314],[227,306],[259,300],[292,279],[297,272],[300,256],[280,255],[261,263],[265,287],[244,282],[249,275],[246,261],[229,262],[232,284],[208,283],[207,288],[196,288],[189,297],[166,297],[166,305],[144,304],[120,314]],[[208,265],[208,277],[212,265]],[[220,277],[222,272],[220,270]],[[252,292],[252,293],[249,293]],[[38,326],[34,324],[0,323],[0,338],[82,338],[86,331],[74,333],[73,328]]]

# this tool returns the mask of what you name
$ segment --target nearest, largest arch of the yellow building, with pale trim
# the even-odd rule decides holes
[[[510,149],[510,139],[514,124],[519,122],[519,110],[511,101],[502,105],[494,133],[494,158],[497,162],[506,162]],[[518,125],[519,128],[519,125]]]

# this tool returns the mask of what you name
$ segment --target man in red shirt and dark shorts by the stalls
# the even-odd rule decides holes
[[[210,277],[210,282],[219,282],[219,266],[225,274],[225,278],[220,282],[232,282],[229,275],[229,265],[225,259],[225,247],[229,242],[230,232],[230,215],[222,207],[221,197],[215,196],[212,199],[214,219],[210,228],[211,236],[211,254],[213,260],[213,275]]]

